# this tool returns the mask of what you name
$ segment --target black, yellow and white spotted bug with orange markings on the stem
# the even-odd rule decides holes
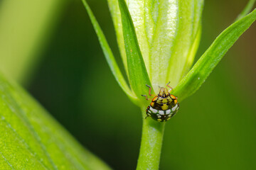
[[[150,105],[146,108],[146,118],[151,117],[156,121],[166,122],[177,113],[180,105],[177,100],[178,98],[170,94],[172,88],[169,84],[170,82],[166,84],[170,88],[169,91],[164,87],[159,87],[159,94],[152,99]],[[146,86],[149,87],[149,96],[151,96],[151,86]],[[147,101],[150,100],[146,95],[142,96],[146,97]]]

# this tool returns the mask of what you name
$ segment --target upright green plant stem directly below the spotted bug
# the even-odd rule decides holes
[[[137,170],[155,170],[159,169],[165,123],[159,123],[151,118],[145,119],[145,108],[142,107],[142,143],[139,150]]]

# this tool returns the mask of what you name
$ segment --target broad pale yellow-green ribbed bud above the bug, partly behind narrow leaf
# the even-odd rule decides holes
[[[117,0],[108,0],[108,4],[122,59],[126,60]],[[169,81],[176,86],[193,64],[201,34],[203,0],[134,0],[127,1],[127,6],[154,89]]]

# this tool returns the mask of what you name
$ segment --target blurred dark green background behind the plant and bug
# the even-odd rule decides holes
[[[10,0],[0,1],[0,23],[5,18],[1,11],[7,8],[6,1]],[[107,1],[88,2],[121,66]],[[196,60],[233,23],[246,2],[205,2]],[[10,20],[20,12],[12,11]],[[33,12],[31,15],[37,16]],[[10,36],[0,38],[0,48],[10,40],[10,51],[16,51],[30,36],[41,36],[36,41],[40,47],[32,46],[38,50],[27,59],[30,69],[26,67],[25,76],[13,78],[113,169],[135,169],[142,116],[114,80],[85,8],[79,0],[58,1],[49,13],[43,27],[47,31],[27,33],[20,39],[12,38],[15,33],[9,31]],[[20,22],[16,29],[33,24],[33,20]],[[181,103],[179,113],[166,123],[160,169],[256,169],[255,26],[242,35],[201,89]],[[5,35],[3,27],[0,24],[0,35]],[[12,57],[0,50],[0,67],[10,77],[13,74],[4,67],[6,63],[14,69],[22,67],[19,54]]]

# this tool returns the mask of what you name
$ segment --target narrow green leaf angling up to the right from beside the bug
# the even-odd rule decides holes
[[[212,45],[206,50],[202,57],[196,62],[193,68],[186,74],[181,82],[172,91],[178,96],[179,101],[184,100],[195,93],[206,81],[210,72],[220,62],[226,52],[232,47],[236,40],[247,30],[256,19],[256,9],[244,18],[236,21],[220,33]]]

